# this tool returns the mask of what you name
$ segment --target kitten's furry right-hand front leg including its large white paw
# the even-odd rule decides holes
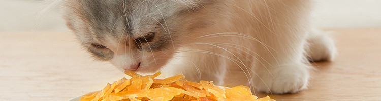
[[[296,93],[307,88],[310,77],[308,61],[304,55],[307,32],[278,28],[263,30],[256,36],[257,62],[253,63],[252,83],[256,91],[272,94]]]

